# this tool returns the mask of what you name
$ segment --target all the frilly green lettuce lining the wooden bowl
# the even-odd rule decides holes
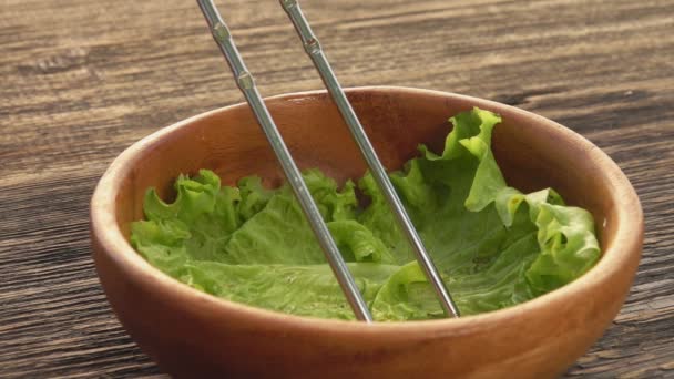
[[[391,182],[463,315],[509,307],[578,278],[599,259],[592,215],[553,190],[509,187],[491,151],[501,121],[473,109],[453,124],[441,154],[421,155]],[[312,196],[377,320],[443,317],[390,209],[367,173],[341,188],[304,173]],[[210,171],[180,176],[176,199],[145,196],[133,246],[152,265],[200,290],[303,316],[353,319],[287,185],[258,177],[221,186]]]

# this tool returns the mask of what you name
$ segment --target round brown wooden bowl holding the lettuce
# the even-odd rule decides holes
[[[167,195],[180,173],[214,170],[232,184],[249,174],[278,183],[279,166],[248,106],[165,127],[124,151],[91,202],[96,269],[119,319],[162,370],[176,377],[552,377],[602,335],[621,308],[643,243],[630,182],[595,145],[508,105],[405,88],[348,91],[384,164],[397,168],[418,143],[439,148],[447,119],[472,106],[498,112],[493,147],[511,185],[552,186],[595,217],[603,256],[578,280],[531,301],[461,319],[365,325],[296,317],[200,293],[150,266],[129,244],[143,194]],[[300,167],[338,177],[365,171],[325,92],[267,105]]]

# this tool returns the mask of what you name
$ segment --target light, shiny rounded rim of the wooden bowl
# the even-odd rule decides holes
[[[124,238],[118,226],[114,199],[119,193],[119,184],[122,183],[121,180],[130,173],[133,163],[137,162],[141,153],[162,140],[163,136],[182,127],[187,127],[201,120],[226,113],[235,109],[247,107],[247,103],[233,104],[191,116],[170,126],[160,129],[125,148],[110,164],[94,190],[90,204],[91,237],[100,244],[100,248],[105,250],[105,254],[110,259],[119,267],[123,267],[123,270],[129,275],[130,280],[142,281],[143,285],[151,286],[153,291],[173,296],[176,300],[183,300],[185,304],[188,301],[196,301],[200,307],[207,308],[212,311],[217,311],[219,314],[236,313],[251,322],[266,322],[268,326],[275,325],[277,327],[288,328],[288,330],[295,328],[309,328],[314,331],[329,330],[335,334],[359,335],[380,335],[394,330],[400,336],[409,336],[410,334],[417,335],[419,332],[431,332],[435,335],[445,335],[447,332],[451,332],[452,335],[468,334],[474,328],[483,328],[486,325],[499,325],[500,322],[517,318],[523,313],[542,309],[550,303],[564,304],[564,299],[572,298],[574,294],[586,290],[589,287],[600,286],[606,278],[617,275],[621,267],[629,264],[630,260],[634,258],[633,254],[641,256],[643,242],[643,212],[636,192],[617,164],[582,135],[538,114],[494,101],[462,94],[405,86],[359,86],[347,89],[347,93],[386,94],[391,92],[404,93],[406,95],[442,96],[448,99],[448,101],[462,101],[472,103],[477,106],[487,105],[487,107],[496,109],[497,111],[508,110],[509,113],[533,117],[538,123],[543,124],[547,127],[554,127],[560,133],[564,134],[564,136],[571,139],[571,142],[586,147],[585,151],[590,158],[602,166],[604,175],[613,186],[615,196],[620,198],[621,204],[621,206],[616,207],[615,238],[609,244],[607,248],[602,250],[601,259],[580,278],[531,300],[484,314],[432,320],[366,324],[355,322],[353,320],[295,316],[226,300],[194,289],[170,277],[159,268],[155,268],[135,252],[126,238]],[[287,101],[325,93],[325,90],[303,91],[269,96],[266,98],[265,101]],[[595,221],[595,223],[596,222],[598,221]],[[626,249],[634,253],[619,254],[620,249]],[[601,272],[602,275],[592,275],[599,272]]]

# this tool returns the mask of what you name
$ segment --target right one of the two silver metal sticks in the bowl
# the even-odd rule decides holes
[[[328,62],[318,39],[312,32],[312,28],[309,27],[309,22],[305,18],[297,0],[280,0],[280,4],[283,9],[286,11],[290,20],[293,21],[293,25],[297,31],[297,34],[302,39],[302,43],[304,44],[305,51],[314,62],[314,65],[320,73],[320,78],[325,83],[328,92],[333,96],[333,100],[337,104],[341,116],[346,121],[349,130],[351,131],[351,135],[354,140],[360,147],[360,152],[365,161],[367,162],[379,190],[384,193],[384,196],[388,201],[389,206],[394,211],[394,215],[398,225],[407,240],[411,245],[417,260],[421,266],[421,269],[426,274],[426,277],[430,280],[433,289],[436,290],[438,298],[440,299],[440,305],[447,315],[452,315],[453,317],[459,317],[459,308],[453,303],[438,269],[432,263],[430,255],[426,252],[423,247],[423,243],[419,237],[419,234],[415,229],[400,198],[396,194],[396,190],[394,188],[391,182],[389,181],[386,170],[381,165],[377,153],[372,148],[370,141],[368,140],[362,125],[360,125],[360,121],[356,116],[354,109],[351,107],[349,101],[347,100],[341,85],[337,81],[335,76],[335,72],[333,71],[330,63]]]

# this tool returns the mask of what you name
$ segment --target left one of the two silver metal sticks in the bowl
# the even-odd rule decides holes
[[[253,75],[251,75],[251,72],[248,72],[241,54],[238,53],[238,50],[236,49],[236,45],[234,44],[234,41],[232,40],[229,29],[223,21],[212,0],[197,0],[197,2],[202,12],[204,13],[204,17],[206,18],[208,27],[211,28],[213,39],[215,42],[217,42],[217,45],[225,55],[227,63],[234,73],[238,88],[251,105],[251,109],[253,110],[257,122],[267,136],[269,144],[272,144],[274,153],[280,162],[286,178],[295,192],[299,205],[302,206],[302,209],[325,253],[326,259],[328,260],[337,281],[341,286],[349,305],[356,314],[356,318],[366,322],[371,322],[372,316],[367,308],[367,304],[358,290],[358,286],[356,286],[356,281],[349,273],[341,254],[339,254],[339,249],[337,248],[330,232],[323,221],[320,212],[318,212],[316,203],[314,203],[312,194],[304,183],[302,174],[297,168],[295,161],[293,161],[283,137],[278,133],[276,124],[272,120],[272,116],[269,115],[269,112],[267,111],[267,107],[259,92],[257,91],[257,88],[255,86]]]

